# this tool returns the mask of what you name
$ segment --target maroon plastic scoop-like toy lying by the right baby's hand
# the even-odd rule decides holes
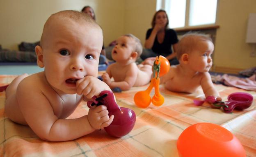
[[[206,102],[209,102],[213,108],[223,108],[225,113],[231,113],[235,110],[244,110],[251,106],[253,101],[253,96],[249,93],[236,92],[228,96],[228,101],[222,102],[217,101],[216,97],[208,96],[206,97]],[[204,101],[203,101],[204,102]],[[201,105],[200,101],[194,100],[196,105]]]

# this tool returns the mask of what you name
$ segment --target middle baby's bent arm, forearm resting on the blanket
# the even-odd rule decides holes
[[[103,81],[106,82],[108,86],[110,86],[110,88],[113,89],[115,87],[119,87],[122,91],[126,91],[129,90],[135,84],[138,75],[138,70],[139,69],[136,64],[130,64],[129,70],[126,72],[125,79],[120,82],[111,82],[110,80],[108,80],[108,78],[110,77],[106,74],[105,76],[103,75],[102,78]],[[121,73],[123,73],[123,71],[121,71]]]

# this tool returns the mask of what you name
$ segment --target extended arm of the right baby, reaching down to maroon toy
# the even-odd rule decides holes
[[[221,97],[219,97],[219,92],[215,89],[210,73],[205,72],[202,73],[202,78],[201,78],[201,82],[200,82],[202,88],[203,88],[203,93],[204,95],[207,96],[215,96],[217,97],[217,100],[221,101]]]

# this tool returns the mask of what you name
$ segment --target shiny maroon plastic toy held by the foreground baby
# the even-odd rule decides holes
[[[99,97],[92,97],[92,101],[87,102],[87,106],[91,108],[94,105],[107,106],[108,115],[114,115],[113,122],[105,127],[105,131],[114,137],[122,137],[130,133],[135,125],[136,114],[130,108],[119,107],[114,101],[112,91],[102,91]]]

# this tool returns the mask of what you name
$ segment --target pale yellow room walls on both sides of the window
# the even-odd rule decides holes
[[[105,46],[125,33],[133,33],[144,44],[156,8],[156,0],[0,0],[0,4],[0,44],[5,49],[18,49],[22,41],[38,41],[52,13],[80,11],[85,5],[95,10]],[[250,57],[252,46],[245,43],[249,13],[256,13],[256,0],[219,0],[215,67],[256,66],[256,57]]]

